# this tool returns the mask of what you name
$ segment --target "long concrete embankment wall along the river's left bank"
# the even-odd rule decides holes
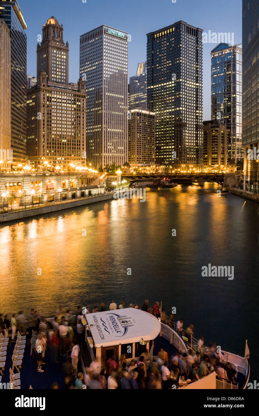
[[[21,220],[24,218],[35,217],[42,214],[48,214],[56,211],[61,211],[69,208],[75,208],[82,205],[91,204],[94,202],[106,201],[113,198],[113,193],[91,196],[88,198],[81,198],[72,201],[56,202],[52,205],[39,206],[37,208],[30,208],[21,211],[9,212],[6,214],[0,214],[0,223],[9,221]]]

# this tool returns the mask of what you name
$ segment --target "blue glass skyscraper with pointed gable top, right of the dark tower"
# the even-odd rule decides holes
[[[228,161],[242,158],[242,48],[220,43],[211,52],[211,118],[227,124]]]

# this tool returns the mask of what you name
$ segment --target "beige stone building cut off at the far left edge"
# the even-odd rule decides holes
[[[11,39],[0,19],[0,171],[10,167],[11,156]],[[8,154],[7,154],[8,153]]]

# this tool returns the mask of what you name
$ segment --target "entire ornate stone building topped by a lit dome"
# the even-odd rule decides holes
[[[37,85],[27,91],[28,156],[32,168],[44,170],[47,165],[67,171],[86,165],[85,82],[79,79],[76,89],[64,82],[68,43],[64,47],[63,28],[54,17],[43,25],[42,39],[37,47]]]

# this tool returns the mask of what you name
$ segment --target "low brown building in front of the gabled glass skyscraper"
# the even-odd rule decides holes
[[[208,170],[227,167],[227,150],[230,129],[217,120],[203,121],[203,165]]]

